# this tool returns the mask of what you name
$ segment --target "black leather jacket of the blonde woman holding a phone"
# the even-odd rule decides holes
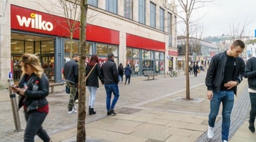
[[[36,74],[32,74],[29,79],[27,79],[27,77],[29,76],[25,74],[19,81],[19,88],[23,88],[24,83],[26,83],[28,87],[24,96],[19,96],[19,108],[23,106],[23,100],[25,100],[24,104],[27,106],[27,112],[29,112],[48,104],[46,96],[49,94],[49,81],[45,74],[42,74],[41,78],[36,76]],[[39,81],[38,90],[32,90],[36,81]]]

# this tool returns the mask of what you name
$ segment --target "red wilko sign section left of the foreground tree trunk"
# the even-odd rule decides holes
[[[65,17],[46,14],[16,5],[11,5],[10,8],[12,30],[70,37],[70,28]],[[79,23],[75,26],[73,38],[79,39]]]

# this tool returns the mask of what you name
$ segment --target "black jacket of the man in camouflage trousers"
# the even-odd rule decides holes
[[[71,59],[64,65],[64,77],[67,82],[78,84],[78,63]]]

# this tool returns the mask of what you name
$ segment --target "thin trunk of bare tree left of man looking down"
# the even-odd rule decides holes
[[[188,73],[188,62],[189,62],[189,53],[188,53],[188,42],[189,42],[189,33],[188,33],[188,29],[189,25],[188,25],[188,21],[186,21],[186,65],[185,65],[185,72],[186,72],[186,99],[190,99],[190,85],[189,85],[189,73]]]

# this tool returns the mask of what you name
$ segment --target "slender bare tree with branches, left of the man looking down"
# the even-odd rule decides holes
[[[190,99],[190,83],[189,83],[189,73],[188,73],[188,64],[189,64],[189,56],[188,56],[188,46],[189,46],[189,26],[192,21],[192,14],[194,10],[198,8],[202,8],[205,6],[205,3],[212,2],[211,0],[176,0],[178,5],[175,3],[169,3],[168,0],[162,0],[163,5],[168,10],[172,11],[174,15],[179,17],[185,23],[185,37],[186,37],[186,50],[185,50],[185,75],[186,75],[186,99]],[[177,12],[177,7],[181,8],[181,12]],[[197,20],[198,21],[198,20]]]

